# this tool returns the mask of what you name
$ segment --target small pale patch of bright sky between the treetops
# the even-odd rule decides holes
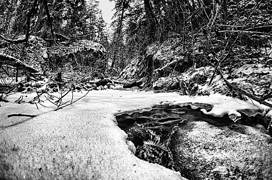
[[[115,10],[113,11],[115,2],[109,1],[109,0],[98,0],[98,1],[99,1],[98,8],[101,9],[102,11],[103,19],[106,23],[110,25],[110,23],[112,22],[111,18],[115,12]]]

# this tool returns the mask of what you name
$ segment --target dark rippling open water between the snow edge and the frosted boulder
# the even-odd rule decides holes
[[[188,121],[206,121],[214,126],[234,124],[227,115],[206,115],[201,108],[192,109],[180,105],[158,105],[151,111],[124,113],[116,116],[118,126],[128,134],[128,140],[136,147],[135,155],[150,163],[174,169],[172,150],[169,149],[171,135],[176,128]]]

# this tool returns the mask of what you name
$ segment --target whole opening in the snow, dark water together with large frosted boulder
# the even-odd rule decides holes
[[[157,105],[116,119],[134,143],[136,157],[179,171],[189,180],[269,180],[272,138],[257,119],[242,114],[234,124],[227,115],[214,117],[200,109]]]

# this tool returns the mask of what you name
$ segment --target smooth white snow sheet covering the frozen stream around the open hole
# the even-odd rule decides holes
[[[73,92],[73,100],[86,92]],[[203,109],[204,113],[228,114],[234,121],[240,112],[265,115],[269,111],[258,102],[220,94],[189,97],[128,90],[92,90],[78,102],[53,111],[56,106],[43,96],[46,107],[37,104],[39,109],[35,104],[13,103],[21,95],[27,102],[36,93],[15,93],[8,96],[10,102],[0,102],[0,178],[4,179],[181,179],[177,172],[137,159],[114,115],[164,103],[210,104],[212,110]],[[63,102],[71,98],[69,92]],[[7,118],[16,113],[36,117]]]

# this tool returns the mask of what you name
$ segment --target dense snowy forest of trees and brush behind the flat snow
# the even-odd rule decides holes
[[[184,79],[182,73],[212,67],[211,81],[217,74],[233,80],[244,64],[271,67],[269,0],[115,0],[111,30],[98,3],[1,1],[1,91],[14,89],[6,77],[55,76],[62,88],[80,90],[80,83],[110,77],[148,90],[184,87],[184,94],[195,95],[206,93],[198,86],[210,75]],[[225,83],[234,96],[263,102],[272,95],[271,75],[259,77],[265,83],[253,78],[247,89]]]

